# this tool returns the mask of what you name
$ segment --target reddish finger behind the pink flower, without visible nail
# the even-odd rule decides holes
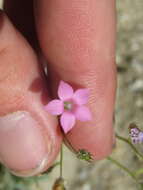
[[[91,92],[92,121],[78,121],[66,139],[102,159],[115,140],[115,1],[37,0],[35,15],[53,92],[59,80]]]

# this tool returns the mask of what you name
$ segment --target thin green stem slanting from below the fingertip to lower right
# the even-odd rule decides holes
[[[136,182],[137,178],[134,175],[133,172],[131,172],[128,168],[126,168],[125,166],[123,166],[120,162],[118,162],[117,160],[114,160],[112,157],[107,157],[107,160],[110,160],[112,163],[114,163],[116,166],[118,166],[119,168],[121,168],[122,170],[124,170],[126,173],[128,173],[129,176],[131,176]]]

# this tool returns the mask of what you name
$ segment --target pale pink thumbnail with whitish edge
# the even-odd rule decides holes
[[[28,112],[0,117],[0,160],[15,175],[32,176],[45,167],[51,150],[51,141],[47,140],[49,143]]]

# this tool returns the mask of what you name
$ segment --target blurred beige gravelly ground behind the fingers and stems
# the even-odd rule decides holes
[[[118,89],[115,109],[115,130],[128,137],[128,124],[132,121],[143,129],[143,1],[117,0],[117,70]],[[142,147],[139,147],[142,150]],[[79,161],[66,148],[64,150],[64,177],[68,190],[136,190],[135,182],[108,160],[95,164]],[[125,143],[117,140],[111,155],[131,170],[143,166]],[[50,190],[58,167],[40,181],[42,190]],[[4,190],[2,182],[0,190]],[[35,185],[31,189],[36,189]],[[10,188],[7,190],[10,190]],[[16,190],[16,189],[15,189]],[[18,189],[17,189],[18,190]]]

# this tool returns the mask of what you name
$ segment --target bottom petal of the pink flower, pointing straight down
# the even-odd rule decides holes
[[[60,123],[64,132],[67,133],[75,125],[75,116],[72,113],[64,112],[60,118]]]

